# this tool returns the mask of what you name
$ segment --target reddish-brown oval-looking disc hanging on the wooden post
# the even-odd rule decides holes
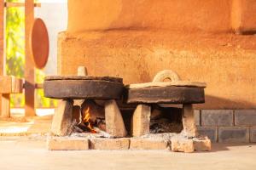
[[[38,69],[43,69],[49,57],[49,36],[42,19],[35,19],[31,36],[32,60]]]

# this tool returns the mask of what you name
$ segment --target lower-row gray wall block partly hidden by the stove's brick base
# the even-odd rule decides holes
[[[201,136],[207,136],[213,143],[218,141],[217,127],[197,127],[197,132]]]

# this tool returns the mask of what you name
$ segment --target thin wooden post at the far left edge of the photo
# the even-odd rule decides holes
[[[4,8],[4,0],[0,0],[0,76],[4,76],[5,74],[5,8]],[[2,94],[0,94],[0,108],[4,102],[2,101]],[[3,111],[1,110],[1,114],[3,116]]]

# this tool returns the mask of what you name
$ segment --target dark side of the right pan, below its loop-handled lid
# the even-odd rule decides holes
[[[205,103],[205,93],[199,87],[126,88],[125,101],[128,104],[200,104]]]

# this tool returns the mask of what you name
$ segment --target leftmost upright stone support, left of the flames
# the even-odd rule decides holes
[[[72,114],[73,100],[60,100],[52,120],[51,133],[57,136],[65,136],[69,134],[72,126]]]

